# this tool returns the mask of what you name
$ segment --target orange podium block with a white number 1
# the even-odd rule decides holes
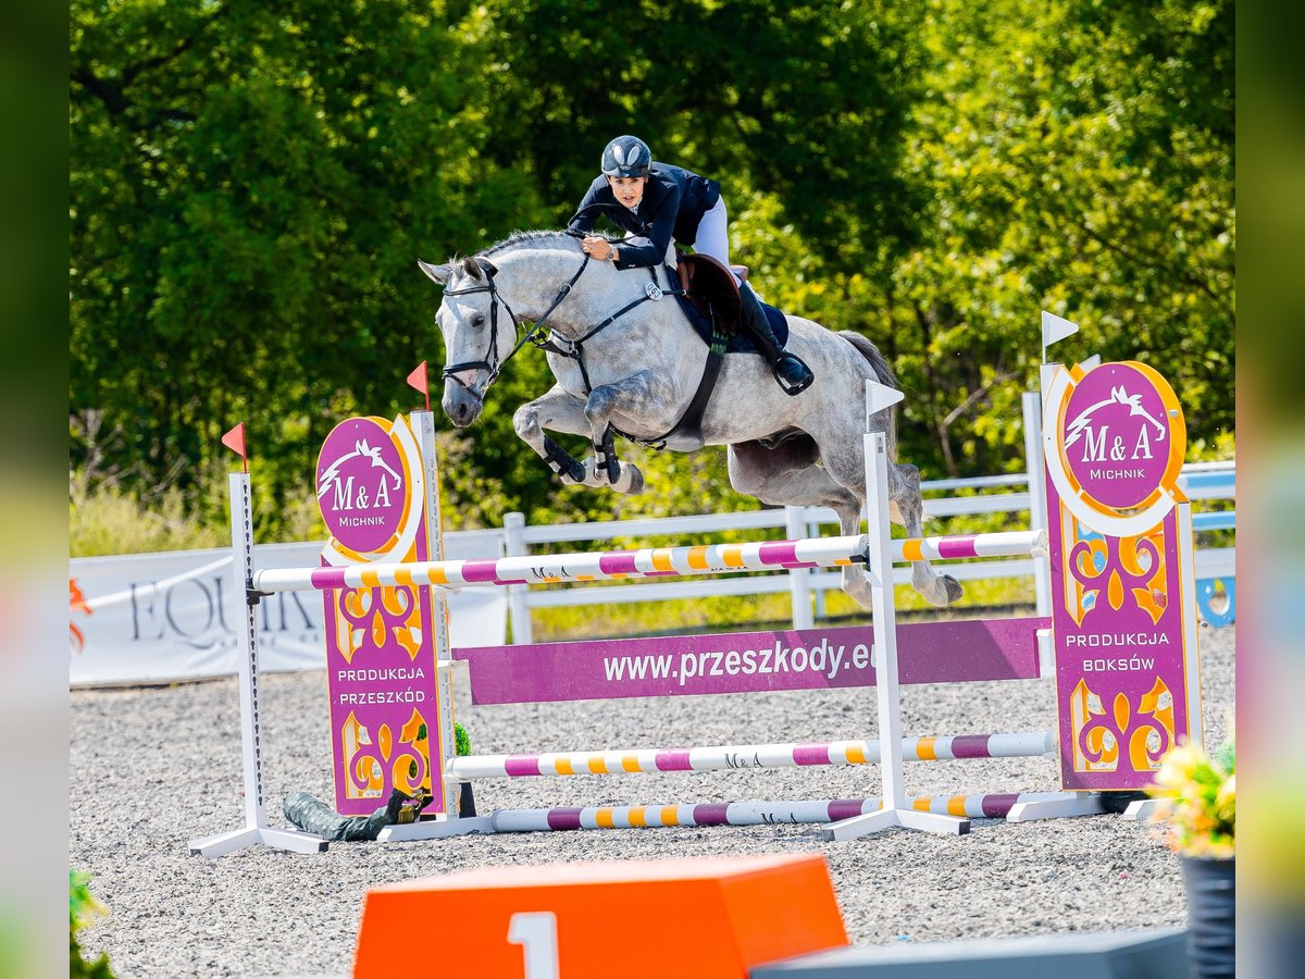
[[[354,979],[746,979],[842,945],[818,854],[482,867],[367,892]]]

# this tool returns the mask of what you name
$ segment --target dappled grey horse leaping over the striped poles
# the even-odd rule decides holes
[[[773,505],[829,506],[844,535],[860,533],[865,381],[897,386],[870,341],[790,316],[788,350],[812,368],[816,384],[787,397],[761,356],[729,354],[701,426],[677,432],[706,346],[679,303],[660,292],[671,287],[664,270],[589,261],[579,241],[560,231],[518,232],[472,257],[419,265],[445,287],[436,321],[446,354],[441,403],[453,424],[462,428],[480,416],[485,392],[521,349],[521,322],[538,328],[547,320],[545,350],[557,382],[522,405],[513,424],[562,483],[642,491],[638,469],[616,458],[613,431],[677,452],[726,445],[729,483],[740,493]],[[873,431],[887,435],[890,458],[894,423],[891,409],[870,419]],[[579,462],[545,431],[587,436],[594,453]],[[890,465],[889,493],[894,522],[920,536],[920,471]],[[911,582],[936,606],[962,594],[955,578],[928,561],[912,564]],[[870,589],[856,568],[844,569],[843,590],[869,607]]]

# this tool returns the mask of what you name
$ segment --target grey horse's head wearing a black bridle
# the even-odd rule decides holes
[[[502,351],[512,350],[515,319],[495,285],[497,269],[484,258],[418,265],[445,287],[435,317],[444,334],[445,355],[440,403],[453,424],[466,428],[480,416],[485,390],[499,376]]]

